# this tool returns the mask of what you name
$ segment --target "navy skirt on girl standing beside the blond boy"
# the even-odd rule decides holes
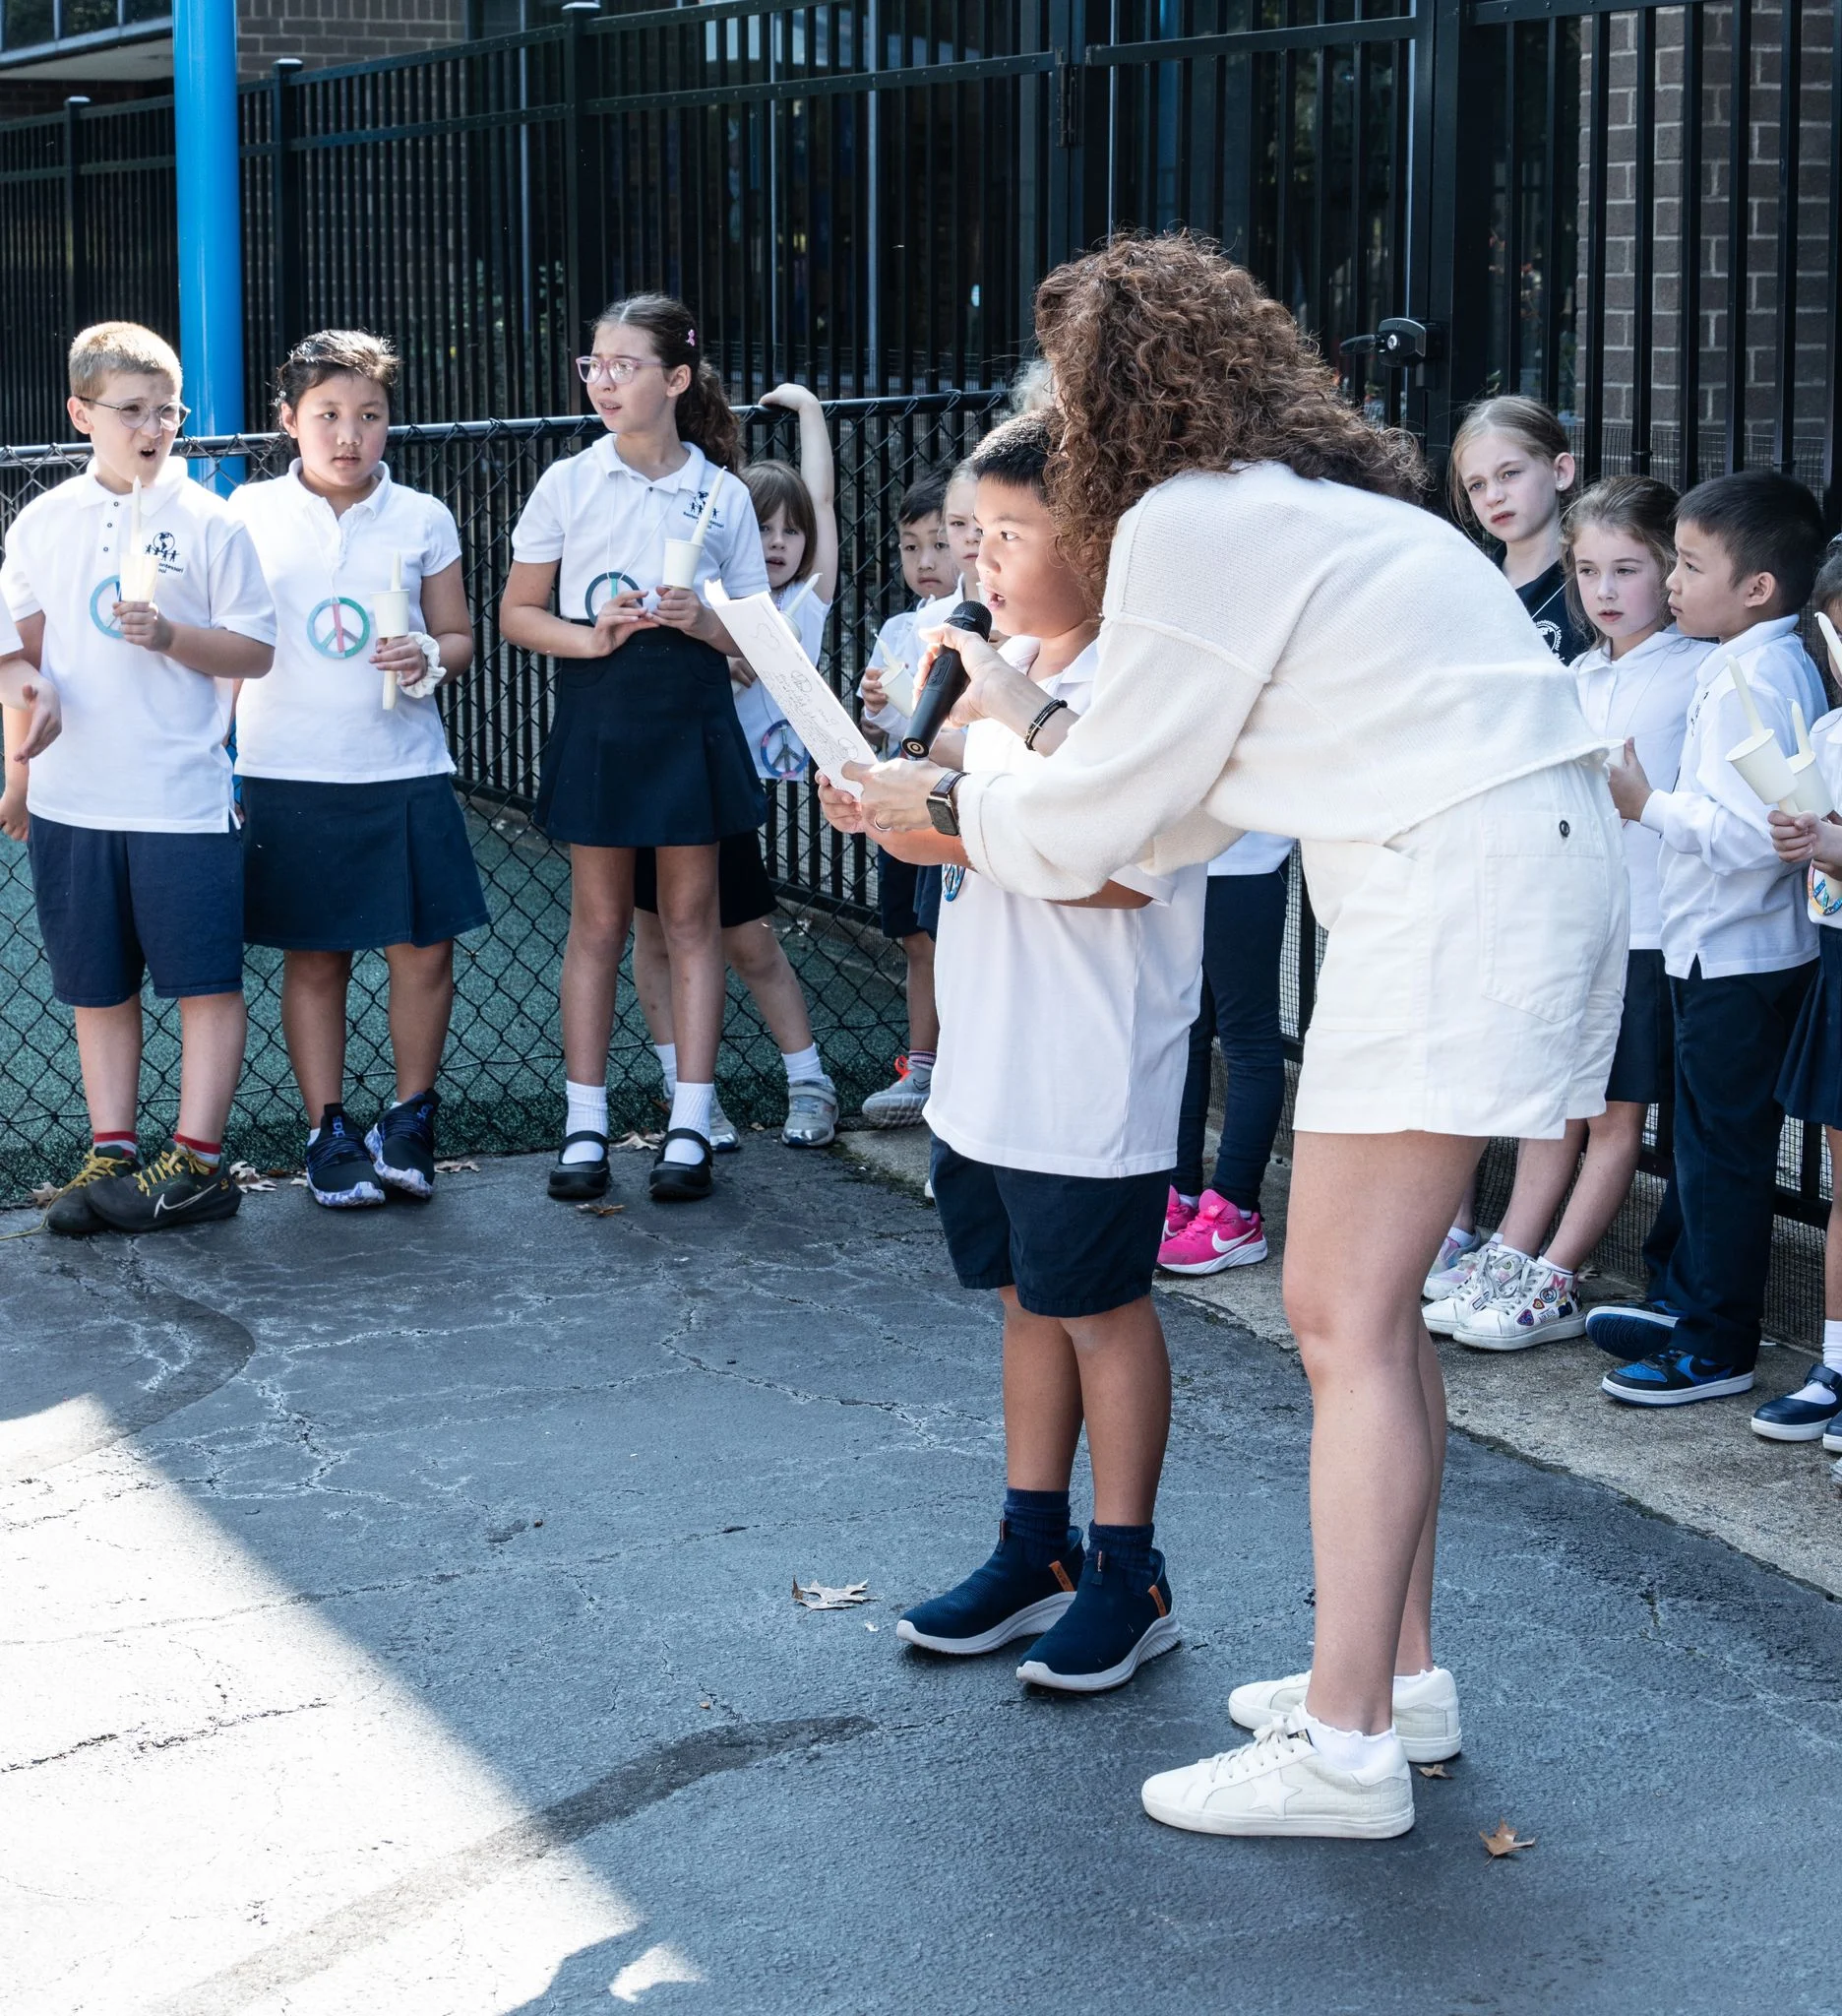
[[[246,776],[244,937],[286,952],[439,946],[486,921],[451,776]]]

